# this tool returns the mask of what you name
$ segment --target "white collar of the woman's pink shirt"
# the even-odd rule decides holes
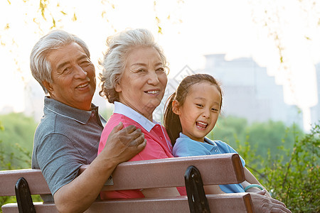
[[[129,119],[132,119],[136,121],[138,124],[140,124],[146,131],[150,132],[156,124],[159,124],[156,121],[149,121],[146,119],[145,116],[142,114],[139,114],[139,112],[135,111],[134,109],[127,107],[126,105],[120,103],[120,102],[114,102],[114,113],[122,114],[124,116],[127,116]]]

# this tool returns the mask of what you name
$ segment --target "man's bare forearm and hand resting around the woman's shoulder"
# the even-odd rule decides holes
[[[122,123],[114,127],[103,151],[83,173],[55,192],[59,212],[84,212],[97,198],[114,168],[144,149],[144,133],[135,126],[122,127]]]

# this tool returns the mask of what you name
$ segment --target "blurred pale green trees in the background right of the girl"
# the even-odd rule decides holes
[[[284,155],[285,149],[291,151],[295,137],[302,135],[302,130],[295,124],[289,127],[282,121],[248,124],[244,118],[228,116],[218,120],[209,138],[225,141],[236,150],[239,146],[250,146],[249,152],[255,152],[255,155],[262,158],[267,158],[270,151],[271,158],[274,159],[277,155]]]

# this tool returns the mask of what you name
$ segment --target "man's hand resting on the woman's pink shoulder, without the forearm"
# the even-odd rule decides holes
[[[136,126],[123,128],[122,122],[114,126],[105,143],[105,148],[100,153],[108,153],[109,157],[114,157],[114,163],[119,164],[130,160],[146,146],[144,133]]]

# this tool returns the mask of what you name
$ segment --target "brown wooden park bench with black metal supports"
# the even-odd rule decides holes
[[[82,166],[80,173],[86,168],[87,165]],[[125,162],[117,166],[103,190],[186,185],[188,196],[96,200],[86,212],[253,212],[249,193],[205,195],[203,191],[203,185],[244,180],[240,158],[235,153]],[[40,170],[0,171],[0,196],[17,198],[17,203],[1,207],[4,213],[58,212],[54,203],[33,202],[28,190],[31,195],[50,194]]]

